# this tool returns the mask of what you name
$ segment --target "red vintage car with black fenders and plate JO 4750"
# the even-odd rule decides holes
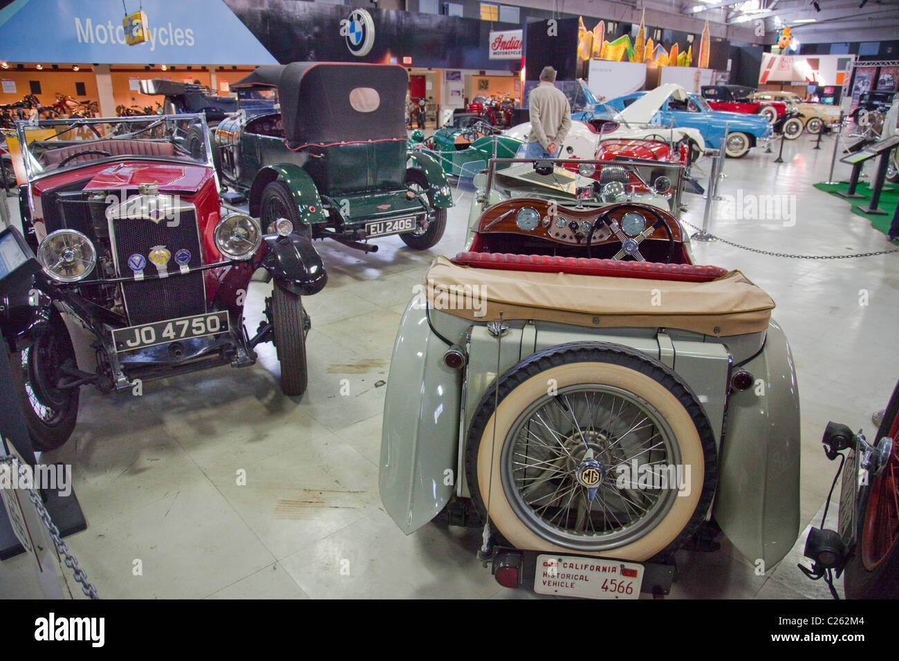
[[[288,219],[263,228],[223,208],[203,115],[41,120],[16,130],[27,174],[22,233],[43,271],[33,284],[41,323],[12,348],[38,449],[66,442],[83,385],[134,392],[147,380],[246,367],[263,342],[275,344],[284,393],[305,391],[301,296],[325,286],[324,266]],[[195,134],[202,148],[191,154],[186,138]],[[260,267],[274,286],[249,335],[245,298]],[[87,351],[76,358],[68,329],[77,326],[92,335],[93,361],[83,360]]]

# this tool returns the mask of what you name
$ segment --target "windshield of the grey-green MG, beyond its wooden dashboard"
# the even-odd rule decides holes
[[[475,187],[490,204],[515,197],[578,208],[642,202],[680,217],[683,181],[681,165],[655,161],[495,158]]]

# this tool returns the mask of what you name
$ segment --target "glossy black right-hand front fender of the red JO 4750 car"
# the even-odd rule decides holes
[[[269,249],[262,266],[276,285],[298,296],[311,296],[325,287],[325,264],[307,237],[293,232],[286,237],[268,234],[263,238]]]

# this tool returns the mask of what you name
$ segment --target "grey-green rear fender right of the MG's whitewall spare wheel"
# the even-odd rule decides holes
[[[739,369],[754,382],[727,404],[712,514],[736,549],[752,563],[761,559],[767,571],[799,534],[799,392],[776,322],[761,352]]]

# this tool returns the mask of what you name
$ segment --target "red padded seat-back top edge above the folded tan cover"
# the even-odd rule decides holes
[[[642,278],[708,282],[727,274],[720,266],[699,264],[655,264],[653,262],[624,262],[617,259],[587,257],[559,257],[553,255],[512,255],[509,253],[459,253],[454,264],[504,271],[563,272],[575,275],[605,275],[614,278]]]

